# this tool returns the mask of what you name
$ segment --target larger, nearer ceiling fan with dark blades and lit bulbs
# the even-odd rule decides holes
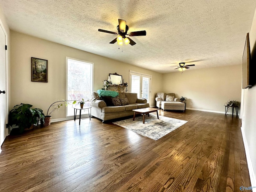
[[[103,29],[98,29],[98,31],[100,32],[105,32],[105,33],[110,33],[110,34],[115,34],[115,35],[119,35],[117,38],[115,38],[114,40],[112,40],[110,43],[114,44],[115,42],[118,42],[118,45],[122,45],[123,44],[123,39],[124,39],[124,43],[125,44],[130,44],[130,45],[135,45],[136,42],[134,42],[133,40],[131,40],[129,37],[126,37],[126,35],[128,36],[145,36],[146,35],[146,31],[134,31],[134,32],[129,32],[128,33],[128,29],[129,27],[126,25],[126,21],[122,20],[122,19],[118,19],[118,26],[116,27],[118,30],[118,33],[116,32],[112,32],[112,31],[107,31],[107,30],[103,30]]]

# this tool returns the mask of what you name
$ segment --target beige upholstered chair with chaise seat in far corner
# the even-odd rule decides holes
[[[180,98],[175,98],[174,93],[157,93],[156,106],[162,110],[186,110],[186,104],[180,102]]]

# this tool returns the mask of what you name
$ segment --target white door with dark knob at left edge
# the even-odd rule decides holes
[[[0,24],[0,146],[4,142],[4,139],[7,136],[6,122],[6,94],[3,91],[6,91],[6,35],[2,26]],[[0,150],[1,152],[1,150]]]

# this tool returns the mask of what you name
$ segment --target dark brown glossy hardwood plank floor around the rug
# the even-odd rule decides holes
[[[186,110],[154,141],[100,120],[52,123],[8,136],[1,192],[240,192],[251,186],[236,116]]]

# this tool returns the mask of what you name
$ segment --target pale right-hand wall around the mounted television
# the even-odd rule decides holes
[[[250,50],[252,53],[253,64],[256,64],[256,10],[254,13],[254,19],[252,22],[252,27],[249,33],[250,36]],[[246,34],[244,34],[245,40]],[[255,72],[255,71],[254,71]],[[255,74],[254,74],[255,75]],[[252,186],[256,186],[256,85],[251,89],[242,90],[244,96],[244,108],[242,115],[242,131],[244,132],[244,140],[246,141],[246,148],[248,148],[250,157],[247,156],[247,160],[251,161],[252,167],[249,167],[250,176],[254,174],[254,183]],[[252,181],[252,180],[251,180]]]

